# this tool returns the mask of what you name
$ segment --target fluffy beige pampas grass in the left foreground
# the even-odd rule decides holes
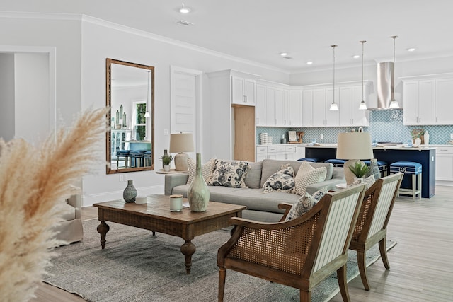
[[[28,301],[62,244],[54,238],[59,205],[88,172],[91,149],[104,139],[108,108],[88,110],[40,148],[23,139],[0,139],[1,301]]]

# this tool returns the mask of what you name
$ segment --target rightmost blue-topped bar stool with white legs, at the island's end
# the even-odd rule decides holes
[[[390,165],[390,174],[404,173],[404,175],[412,175],[412,188],[402,189],[400,187],[398,194],[412,195],[413,202],[415,199],[422,198],[422,165],[413,161],[396,161]]]

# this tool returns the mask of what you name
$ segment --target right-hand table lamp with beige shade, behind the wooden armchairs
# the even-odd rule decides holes
[[[348,159],[343,165],[346,184],[354,182],[355,175],[349,170],[350,165],[355,165],[361,159],[374,158],[369,132],[345,132],[338,134],[337,156],[338,159]],[[360,161],[362,165],[364,162]]]

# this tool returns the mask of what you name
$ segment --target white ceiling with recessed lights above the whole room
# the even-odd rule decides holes
[[[1,0],[0,11],[80,13],[288,72],[453,54],[451,0]],[[176,21],[193,25],[178,25]],[[415,47],[414,52],[407,49]],[[285,59],[281,52],[287,52]],[[313,62],[307,65],[306,62]]]

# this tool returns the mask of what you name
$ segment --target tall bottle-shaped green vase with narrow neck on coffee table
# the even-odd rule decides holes
[[[197,170],[195,178],[189,186],[187,198],[191,211],[206,211],[207,203],[210,201],[210,190],[202,175],[200,153],[197,153]]]

